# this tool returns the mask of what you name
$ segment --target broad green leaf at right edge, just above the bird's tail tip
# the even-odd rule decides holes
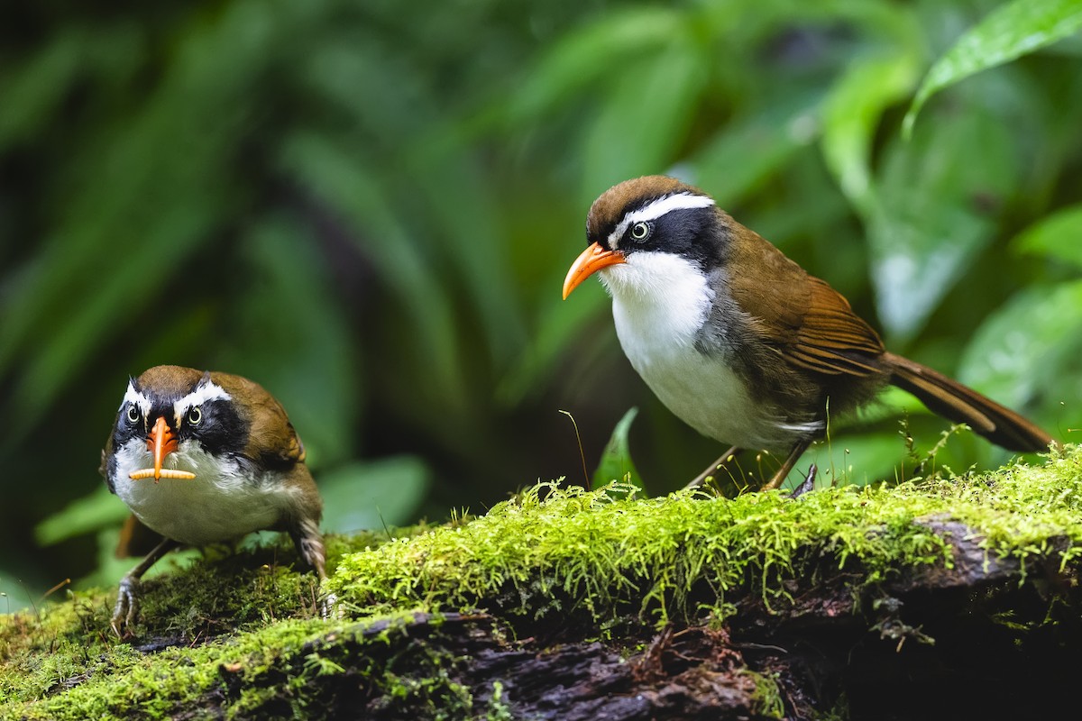
[[[1082,281],[1038,286],[1013,297],[977,331],[962,357],[959,378],[1016,411],[1039,403],[1045,417],[1059,418],[1061,428],[1078,427]]]

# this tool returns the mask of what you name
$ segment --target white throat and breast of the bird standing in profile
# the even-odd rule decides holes
[[[783,449],[808,432],[754,403],[724,353],[708,356],[696,347],[714,292],[694,264],[672,253],[639,252],[599,275],[612,294],[628,360],[676,417],[703,436],[747,449]]]

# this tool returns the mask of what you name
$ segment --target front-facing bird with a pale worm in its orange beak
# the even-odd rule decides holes
[[[286,531],[326,578],[322,499],[286,411],[239,375],[157,365],[129,378],[100,472],[132,511],[121,539],[142,526],[161,536],[120,580],[111,627],[130,632],[140,578],[179,546]]]

